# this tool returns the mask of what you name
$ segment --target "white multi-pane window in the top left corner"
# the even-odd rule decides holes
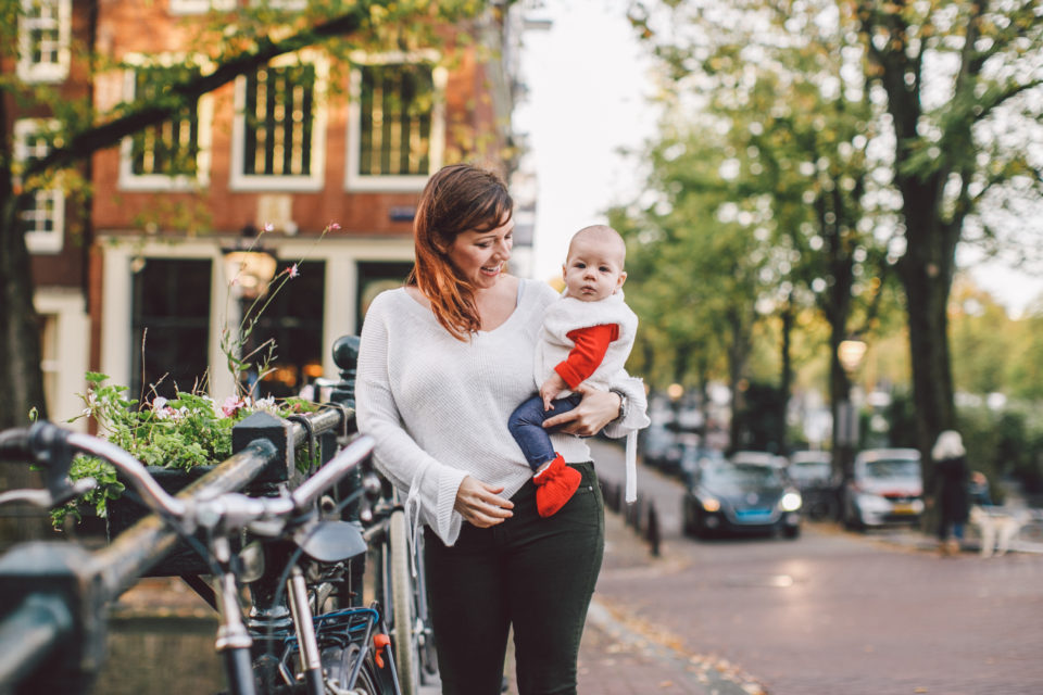
[[[54,83],[68,76],[72,0],[22,0],[18,79]]]

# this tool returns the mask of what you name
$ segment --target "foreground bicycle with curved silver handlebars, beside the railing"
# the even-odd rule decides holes
[[[365,540],[357,527],[345,521],[319,519],[316,502],[345,473],[357,468],[372,447],[369,438],[356,438],[291,493],[284,491],[284,494],[274,497],[249,497],[229,491],[229,486],[241,486],[255,477],[267,459],[275,455],[275,447],[269,442],[257,440],[250,444],[250,451],[237,455],[238,460],[234,460],[237,458],[234,456],[223,464],[224,469],[215,475],[214,484],[200,485],[202,491],[196,494],[190,492],[173,497],[151,478],[144,466],[122,448],[87,434],[38,422],[26,430],[0,433],[0,457],[15,452],[33,458],[45,469],[47,490],[11,491],[4,493],[2,501],[20,498],[35,504],[56,504],[81,493],[89,484],[79,482],[73,485],[68,481],[67,471],[73,453],[104,458],[126,476],[163,525],[176,529],[178,535],[188,541],[192,541],[197,530],[206,536],[203,553],[215,569],[217,585],[212,597],[219,623],[215,647],[223,656],[233,695],[254,695],[259,683],[265,692],[398,694],[393,647],[389,639],[381,636],[382,630],[378,630],[382,628],[379,605],[338,608],[313,616],[312,606],[321,610],[323,592],[327,597],[330,593],[327,586],[331,576],[319,572],[313,577],[311,584],[305,577],[305,571],[312,571],[317,566],[342,569],[344,563],[365,553]],[[284,632],[251,630],[240,612],[238,574],[241,569],[239,556],[231,553],[230,539],[246,529],[256,538],[274,542],[289,540],[297,546],[284,572],[286,581],[280,582],[287,587],[292,614],[291,619],[282,626],[286,628]],[[118,541],[114,545],[118,545]],[[334,546],[341,549],[332,549]],[[12,687],[34,682],[34,675],[47,664],[55,647],[68,644],[73,637],[83,637],[88,632],[84,623],[98,622],[98,614],[133,583],[133,579],[140,573],[137,570],[148,564],[149,559],[141,559],[143,552],[128,552],[126,543],[118,551],[106,548],[100,552],[101,555],[116,560],[114,566],[108,566],[103,557],[95,557],[81,548],[62,549],[60,554],[63,557],[68,555],[75,560],[68,563],[70,566],[83,568],[81,576],[77,576],[80,579],[78,585],[101,587],[103,591],[99,591],[97,596],[86,597],[32,591],[22,596],[20,605],[7,611],[7,617],[0,622],[0,644],[4,635],[17,631],[32,634],[34,639],[23,639],[23,648],[9,653],[13,658],[0,660],[0,685]],[[26,559],[25,555],[33,553],[9,553],[0,559],[0,569],[17,567],[20,561]],[[307,561],[300,561],[302,557],[307,557]],[[337,577],[337,573],[332,577]],[[273,606],[279,603],[277,597]],[[92,610],[86,611],[89,615],[85,620],[83,616],[73,615],[76,611],[70,606],[80,609],[92,607]],[[27,626],[36,629],[26,630]],[[269,622],[268,628],[271,626]],[[266,659],[276,643],[282,646],[281,654],[275,661]],[[294,660],[300,664],[299,668],[290,666]],[[281,679],[281,683],[268,678],[272,675]],[[37,679],[37,683],[39,681],[47,682],[47,675]],[[66,691],[79,692],[61,686],[51,687],[48,692]]]

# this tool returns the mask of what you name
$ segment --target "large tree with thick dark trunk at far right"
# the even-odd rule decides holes
[[[1011,229],[1039,231],[1038,222],[1026,223],[1043,190],[1043,161],[1027,147],[1031,142],[1038,152],[1043,140],[1039,3],[668,1],[655,10],[645,4],[632,4],[632,22],[670,76],[686,77],[693,93],[714,94],[724,87],[749,106],[743,93],[751,90],[752,75],[782,61],[799,79],[807,71],[800,55],[807,51],[834,60],[831,85],[820,86],[864,96],[866,116],[855,137],[865,147],[856,150],[867,157],[866,186],[878,190],[871,191],[874,204],[851,208],[844,224],[863,224],[858,214],[875,208],[878,222],[871,226],[895,232],[881,240],[890,244],[904,290],[917,446],[927,455],[937,433],[957,425],[946,317],[956,248],[969,240],[996,252],[1019,241]],[[664,5],[668,21],[661,21]],[[736,35],[746,42],[729,42]],[[822,63],[817,65],[819,75],[828,74]],[[833,101],[828,114],[841,114],[841,100]],[[855,192],[859,185],[855,179],[849,190]],[[835,211],[828,214],[835,219]],[[1020,241],[1019,249],[1032,249],[1023,237]],[[842,309],[847,295],[839,280],[849,270],[843,257],[837,261],[832,306]],[[840,325],[835,317],[831,323]],[[930,484],[931,469],[925,469]]]

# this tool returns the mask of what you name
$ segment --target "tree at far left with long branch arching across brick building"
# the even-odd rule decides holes
[[[213,13],[198,27],[196,49],[208,55],[211,67],[181,71],[158,96],[117,104],[110,112],[92,109],[90,99],[70,104],[53,88],[29,86],[15,74],[0,73],[0,428],[26,420],[30,408],[46,416],[40,371],[39,328],[33,306],[33,278],[24,235],[17,218],[20,206],[40,186],[59,173],[73,172],[95,152],[116,147],[127,136],[162,124],[186,104],[255,71],[272,59],[310,46],[323,46],[338,55],[353,49],[417,43],[430,45],[440,27],[474,16],[485,7],[477,0],[431,3],[424,0],[312,0],[301,12],[275,13],[267,3],[241,3],[236,9],[236,30],[228,31],[227,15]],[[21,0],[0,0],[0,65],[8,71],[16,59]],[[109,58],[95,47],[95,37],[74,51],[79,64],[89,66],[88,80],[112,68]],[[178,71],[172,71],[177,73]],[[60,122],[51,132],[53,147],[24,169],[14,165],[8,137],[12,105],[49,111]],[[75,177],[67,177],[73,179]],[[66,182],[67,182],[66,180]],[[16,181],[20,181],[16,185]]]

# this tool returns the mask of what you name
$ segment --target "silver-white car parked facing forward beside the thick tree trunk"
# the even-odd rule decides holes
[[[843,520],[852,529],[919,522],[923,514],[920,452],[869,448],[855,456],[844,490]]]

